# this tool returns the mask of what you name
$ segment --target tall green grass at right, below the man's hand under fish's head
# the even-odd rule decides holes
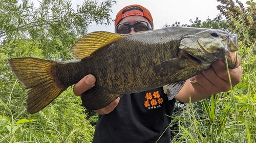
[[[172,142],[256,142],[256,43],[248,37],[239,43],[241,82],[229,92],[184,104],[172,117],[179,127]]]

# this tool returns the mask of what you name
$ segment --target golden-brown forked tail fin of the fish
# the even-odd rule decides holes
[[[51,76],[56,64],[55,61],[36,58],[9,60],[13,73],[29,89],[26,103],[29,113],[40,111],[66,90],[57,85]]]

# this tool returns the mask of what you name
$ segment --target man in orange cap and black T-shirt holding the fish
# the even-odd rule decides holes
[[[116,16],[115,32],[120,34],[152,30],[150,11],[140,5],[124,7]],[[240,82],[242,69],[229,69],[232,86]],[[74,94],[81,95],[95,83],[93,75],[87,75],[74,86]],[[93,142],[156,142],[170,123],[176,100],[198,101],[211,94],[230,90],[226,66],[216,61],[209,69],[187,79],[174,99],[168,99],[163,88],[123,95],[108,106],[95,110],[99,114]],[[84,95],[86,96],[86,95]],[[168,115],[168,116],[166,116]],[[170,142],[166,130],[159,142]]]

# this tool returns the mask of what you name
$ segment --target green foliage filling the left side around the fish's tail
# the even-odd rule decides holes
[[[89,24],[110,24],[115,1],[0,0],[0,142],[91,142],[94,127],[79,97],[69,88],[45,109],[29,115],[27,90],[11,72],[8,60],[32,56],[73,60],[69,51],[87,34]]]

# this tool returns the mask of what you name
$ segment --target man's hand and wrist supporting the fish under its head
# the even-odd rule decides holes
[[[239,59],[241,60],[240,56]],[[241,81],[241,66],[235,69],[229,68],[229,74],[232,87],[234,87]],[[196,83],[191,84],[190,81],[194,80],[196,80]],[[229,90],[230,85],[226,65],[222,61],[217,60],[202,73],[187,79],[183,88],[180,90],[175,98],[178,101],[187,103],[189,102],[190,97],[191,102],[195,102],[207,98],[212,94],[226,92]]]

